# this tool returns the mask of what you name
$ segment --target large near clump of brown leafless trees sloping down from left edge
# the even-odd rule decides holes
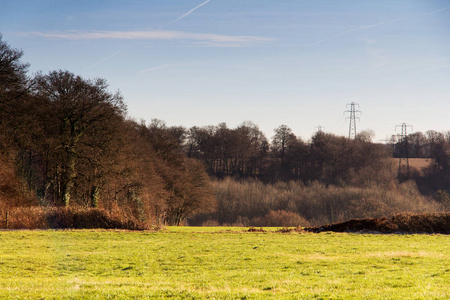
[[[22,55],[0,35],[0,154],[35,204],[118,206],[169,224],[214,208],[203,165],[158,124],[131,120],[104,79],[31,77]],[[8,206],[6,187],[0,196]]]

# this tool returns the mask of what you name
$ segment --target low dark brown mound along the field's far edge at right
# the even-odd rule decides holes
[[[398,214],[391,218],[353,219],[305,228],[310,232],[380,232],[450,234],[450,212],[441,214]]]

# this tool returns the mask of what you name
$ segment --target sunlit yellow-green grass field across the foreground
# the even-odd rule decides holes
[[[0,298],[450,297],[450,236],[243,230],[1,231]]]

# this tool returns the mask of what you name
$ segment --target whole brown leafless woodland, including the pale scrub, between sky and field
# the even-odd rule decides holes
[[[450,131],[379,144],[371,131],[304,141],[281,125],[269,140],[248,121],[147,123],[106,80],[31,76],[22,56],[0,35],[1,226],[305,226],[450,209]],[[405,173],[405,150],[431,163]]]

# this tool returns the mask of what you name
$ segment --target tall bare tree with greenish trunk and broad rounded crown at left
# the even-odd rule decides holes
[[[61,70],[36,77],[35,95],[51,116],[46,135],[54,160],[52,183],[64,206],[69,205],[74,187],[80,140],[112,117],[125,114],[122,96],[111,94],[107,87],[104,79],[85,80]]]

